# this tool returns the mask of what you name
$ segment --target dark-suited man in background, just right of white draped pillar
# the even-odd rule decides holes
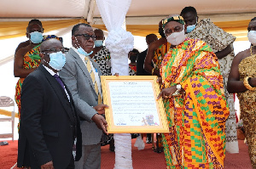
[[[157,41],[157,37],[155,34],[149,34],[146,36],[147,45],[151,42]],[[144,70],[144,62],[146,55],[148,53],[148,48],[140,53],[137,57],[137,76],[150,76],[151,74],[148,71]],[[153,63],[151,64],[153,66]]]

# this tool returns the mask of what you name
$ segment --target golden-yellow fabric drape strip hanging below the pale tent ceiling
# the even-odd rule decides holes
[[[80,22],[85,23],[85,20],[73,19],[42,21],[45,32],[59,30],[61,28],[66,28],[69,25],[76,25]],[[218,25],[218,27],[222,28],[224,31],[235,36],[236,41],[248,41],[247,26],[249,22],[250,20],[237,20],[213,23]],[[0,40],[25,36],[27,24],[28,21],[0,22]],[[107,31],[105,25],[92,26]],[[152,25],[126,25],[126,31],[131,31],[132,35],[141,37],[146,37],[150,33],[159,35],[158,23],[152,23]]]

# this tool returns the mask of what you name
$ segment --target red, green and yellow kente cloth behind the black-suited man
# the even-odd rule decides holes
[[[41,58],[39,56],[40,53],[40,44],[36,47],[32,48],[29,52],[27,52],[23,57],[23,69],[33,69],[37,68],[40,65]],[[21,93],[21,85],[25,78],[20,78],[16,83],[15,87],[15,101],[18,106],[18,115],[20,120],[20,93]],[[20,128],[20,123],[18,124],[18,129]]]

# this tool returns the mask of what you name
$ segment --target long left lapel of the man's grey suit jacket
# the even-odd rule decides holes
[[[83,60],[80,58],[79,54],[77,54],[73,48],[70,48],[70,53],[73,55],[76,63],[79,65],[79,68],[80,70],[84,73],[84,75],[86,76],[86,78],[88,79],[88,81],[90,82],[90,87],[93,88],[93,91],[95,92],[95,87],[94,87],[94,84],[91,80],[91,77],[90,77],[90,73],[89,71],[87,70],[86,66],[84,65],[84,62]],[[95,65],[94,65],[95,66]],[[96,92],[95,92],[96,93]]]

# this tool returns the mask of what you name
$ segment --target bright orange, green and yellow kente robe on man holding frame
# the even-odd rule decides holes
[[[169,133],[163,134],[167,168],[224,168],[224,97],[218,58],[206,42],[186,38],[162,61],[162,89],[181,84],[185,93],[164,99]]]

